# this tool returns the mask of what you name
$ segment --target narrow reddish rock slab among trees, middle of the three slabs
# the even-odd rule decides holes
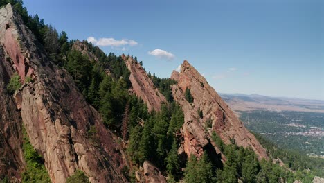
[[[132,82],[133,91],[136,96],[142,98],[147,105],[148,111],[161,110],[161,103],[168,103],[165,97],[154,87],[154,84],[146,71],[133,58],[122,55],[126,66],[130,71],[129,80]]]

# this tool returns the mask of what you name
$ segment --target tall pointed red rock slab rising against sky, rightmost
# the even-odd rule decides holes
[[[183,138],[187,155],[192,153],[199,157],[203,153],[210,139],[210,132],[206,132],[204,127],[210,119],[213,122],[212,130],[219,134],[224,143],[231,143],[231,139],[235,139],[238,146],[251,147],[260,159],[268,158],[265,149],[253,134],[237,119],[215,89],[208,85],[206,79],[186,60],[181,64],[180,73],[174,71],[171,78],[178,81],[177,85],[172,86],[172,93],[185,114]],[[194,98],[193,103],[188,103],[184,96],[187,87]],[[199,109],[203,114],[202,119]]]

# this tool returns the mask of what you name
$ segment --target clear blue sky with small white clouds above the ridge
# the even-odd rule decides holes
[[[24,5],[70,39],[92,37],[106,53],[137,56],[156,76],[170,77],[188,60],[217,92],[324,100],[324,1],[24,0]]]

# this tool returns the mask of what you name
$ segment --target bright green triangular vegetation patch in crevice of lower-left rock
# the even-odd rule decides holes
[[[23,152],[26,161],[26,170],[21,175],[21,182],[51,182],[46,168],[44,159],[30,144],[26,130],[23,128],[24,143]]]

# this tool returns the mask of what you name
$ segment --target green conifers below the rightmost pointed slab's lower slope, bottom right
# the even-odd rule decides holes
[[[273,164],[269,161],[258,161],[257,156],[251,148],[238,147],[235,143],[224,145],[222,139],[213,132],[213,141],[226,156],[226,163],[222,169],[217,169],[217,182],[237,182],[238,179],[242,182],[294,182],[294,180],[303,180],[309,182],[312,177],[296,177],[296,174],[280,167],[278,164]]]

